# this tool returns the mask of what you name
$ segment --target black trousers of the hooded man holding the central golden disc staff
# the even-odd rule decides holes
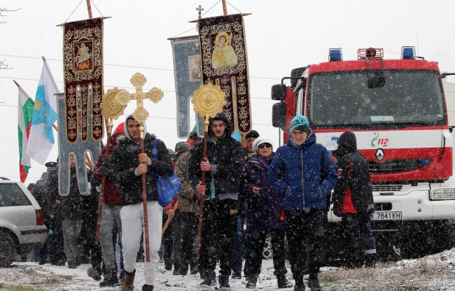
[[[206,271],[216,267],[216,251],[220,250],[219,274],[231,274],[232,250],[237,229],[237,200],[211,199],[204,201],[202,216],[202,261]]]

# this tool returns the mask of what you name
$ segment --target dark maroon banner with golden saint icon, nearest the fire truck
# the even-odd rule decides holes
[[[202,59],[202,83],[221,86],[225,92],[223,111],[232,132],[251,130],[248,58],[241,14],[198,20]]]

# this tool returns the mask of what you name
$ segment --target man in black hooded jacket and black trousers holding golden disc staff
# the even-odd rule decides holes
[[[229,289],[232,248],[237,229],[237,196],[239,176],[244,164],[241,143],[230,136],[231,124],[225,113],[209,119],[207,157],[204,141],[197,143],[190,157],[190,181],[204,196],[202,215],[202,248],[205,279],[202,288],[216,285],[216,250],[221,250],[218,281],[220,289]],[[202,173],[205,172],[205,183]],[[220,248],[217,244],[221,243]]]

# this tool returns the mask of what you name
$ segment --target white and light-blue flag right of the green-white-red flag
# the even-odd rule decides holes
[[[43,61],[43,70],[41,71],[38,89],[36,89],[33,117],[31,118],[30,142],[27,147],[27,155],[40,164],[44,164],[52,146],[54,146],[52,125],[57,121],[57,97],[55,94],[59,92],[44,57]]]

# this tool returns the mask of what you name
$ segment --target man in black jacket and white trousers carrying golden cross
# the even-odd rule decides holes
[[[162,207],[158,204],[158,190],[153,173],[169,177],[174,173],[171,157],[164,142],[158,140],[158,159],[153,155],[154,134],[146,132],[144,126],[144,153],[141,152],[141,124],[128,115],[125,120],[125,136],[113,148],[111,178],[120,186],[120,218],[122,220],[123,264],[125,279],[123,291],[134,290],[136,257],[141,234],[144,232],[144,205],[142,202],[142,174],[146,176],[148,234],[150,239],[150,262],[144,263],[145,285],[143,291],[153,290],[158,250],[161,243]],[[145,237],[145,235],[144,235]],[[146,244],[144,243],[144,246]]]

